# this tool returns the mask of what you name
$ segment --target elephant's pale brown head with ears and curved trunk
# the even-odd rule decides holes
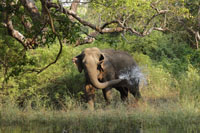
[[[104,60],[104,54],[96,47],[86,48],[80,55],[73,58],[73,62],[78,67],[79,72],[81,73],[84,69],[92,85],[99,89],[104,89],[122,81],[121,79],[106,82],[100,82],[98,80],[98,67],[101,66],[101,69],[103,69]]]

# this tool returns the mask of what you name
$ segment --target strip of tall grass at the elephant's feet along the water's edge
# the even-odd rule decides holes
[[[113,93],[113,98],[118,99],[117,92]],[[117,129],[128,132],[133,128],[148,129],[163,126],[186,129],[193,127],[193,130],[199,130],[200,110],[193,102],[180,101],[177,97],[178,92],[149,95],[151,93],[153,93],[151,90],[143,89],[144,99],[137,104],[132,96],[129,98],[129,104],[113,102],[109,106],[104,106],[97,103],[94,111],[85,109],[85,105],[77,105],[68,111],[44,108],[34,110],[30,106],[21,110],[14,104],[7,103],[1,105],[0,124],[1,126],[56,124],[63,125],[67,130],[99,132]]]

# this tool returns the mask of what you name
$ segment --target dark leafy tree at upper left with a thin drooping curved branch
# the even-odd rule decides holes
[[[78,36],[79,24],[71,21],[60,11],[59,4],[41,0],[3,0],[0,2],[1,28],[17,40],[25,50],[59,40],[60,50],[56,59],[38,73],[56,63],[62,52],[62,40],[73,42]],[[50,9],[55,6],[54,9]],[[50,11],[51,10],[51,11]],[[59,9],[61,10],[61,8]],[[74,8],[75,10],[75,8]]]

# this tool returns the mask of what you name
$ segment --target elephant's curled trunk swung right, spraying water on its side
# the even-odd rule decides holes
[[[122,81],[121,79],[115,79],[115,80],[110,80],[103,83],[99,82],[97,65],[95,64],[95,62],[87,63],[85,64],[85,66],[87,69],[88,76],[90,78],[90,82],[92,83],[92,85],[94,85],[98,89],[104,89],[106,87],[118,84],[119,82]]]

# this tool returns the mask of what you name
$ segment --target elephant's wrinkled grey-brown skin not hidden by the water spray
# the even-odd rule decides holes
[[[128,67],[137,66],[133,58],[126,52],[112,49],[100,50],[96,47],[86,48],[73,58],[79,72],[85,71],[85,93],[91,109],[94,108],[94,96],[96,89],[102,89],[107,103],[110,102],[110,90],[116,88],[124,101],[128,92],[134,95],[136,100],[141,97],[139,83],[131,85],[125,80],[119,79],[119,75]]]

